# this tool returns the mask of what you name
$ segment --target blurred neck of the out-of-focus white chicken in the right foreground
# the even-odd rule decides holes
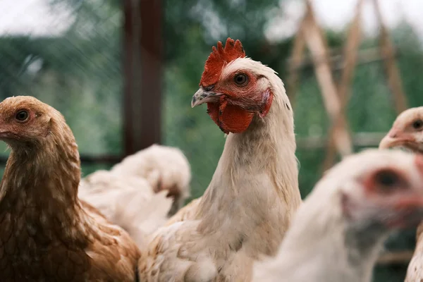
[[[343,219],[338,204],[317,204],[321,197],[313,200],[314,204],[307,203],[307,208],[302,206],[298,211],[283,240],[278,255],[281,260],[274,262],[274,269],[284,278],[281,281],[305,282],[310,277],[328,282],[371,281],[374,263],[388,235],[386,228],[375,223],[353,225]],[[303,271],[305,267],[307,271]]]

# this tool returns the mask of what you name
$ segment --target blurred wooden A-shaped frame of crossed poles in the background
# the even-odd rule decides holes
[[[388,85],[393,93],[396,111],[399,114],[407,109],[407,102],[403,92],[398,67],[396,66],[396,50],[388,36],[388,30],[384,24],[377,0],[372,1],[379,22],[379,48],[359,51],[361,42],[361,11],[364,0],[357,0],[355,16],[350,25],[348,37],[343,47],[343,55],[335,55],[336,51],[330,50],[324,37],[324,33],[317,24],[309,0],[305,1],[306,12],[300,23],[297,36],[295,37],[293,54],[290,59],[290,74],[287,80],[288,94],[294,104],[295,93],[298,87],[298,72],[305,64],[312,63],[316,73],[325,110],[331,121],[331,128],[326,140],[326,158],[322,164],[322,171],[333,166],[336,154],[345,157],[353,153],[354,146],[371,147],[379,145],[384,133],[358,133],[352,135],[348,128],[345,117],[345,109],[350,99],[350,86],[353,80],[355,67],[360,63],[370,61],[383,61],[386,69]],[[305,49],[309,49],[311,56],[305,58]],[[341,78],[336,81],[333,78],[333,63],[337,63],[337,69],[341,71]],[[316,140],[317,139],[317,140]],[[298,147],[321,147],[321,138],[307,138],[298,140]]]

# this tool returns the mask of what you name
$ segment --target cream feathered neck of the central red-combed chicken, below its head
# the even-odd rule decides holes
[[[300,202],[292,111],[276,93],[265,118],[228,135],[197,212],[198,230],[224,250],[274,255]]]

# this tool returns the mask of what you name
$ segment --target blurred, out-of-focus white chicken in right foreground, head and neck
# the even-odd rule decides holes
[[[388,233],[423,219],[423,157],[375,149],[331,168],[255,281],[369,282]],[[412,280],[419,281],[419,280]]]

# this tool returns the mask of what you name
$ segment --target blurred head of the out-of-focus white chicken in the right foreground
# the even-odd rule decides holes
[[[345,185],[341,196],[344,217],[360,226],[416,226],[423,218],[423,156],[394,152],[384,157],[386,163],[357,177],[359,190],[351,189],[353,183]]]

